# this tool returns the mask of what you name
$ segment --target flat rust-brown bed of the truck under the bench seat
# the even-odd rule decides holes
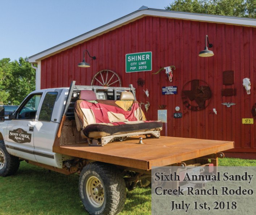
[[[53,152],[88,160],[151,170],[153,166],[167,166],[234,148],[234,142],[161,136],[161,138],[129,138],[103,147],[76,143],[55,146]]]

